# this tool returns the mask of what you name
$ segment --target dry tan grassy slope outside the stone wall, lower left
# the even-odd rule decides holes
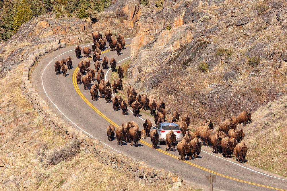
[[[115,171],[83,151],[47,165],[55,151],[70,143],[44,129],[42,117],[21,94],[21,76],[19,66],[0,80],[0,190],[24,190],[24,186],[28,190],[62,190],[69,181],[73,190],[169,189],[168,185],[141,186],[130,174]],[[183,190],[194,189],[187,186]]]

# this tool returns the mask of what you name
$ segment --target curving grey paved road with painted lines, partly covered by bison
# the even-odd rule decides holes
[[[127,39],[126,44],[131,44],[131,39]],[[91,47],[91,44],[81,46],[88,45]],[[36,91],[46,100],[53,111],[70,125],[100,139],[107,147],[133,159],[144,161],[148,166],[164,168],[166,171],[183,175],[185,182],[195,188],[208,190],[209,184],[205,176],[211,173],[216,175],[214,190],[287,190],[287,180],[284,178],[252,167],[248,163],[239,164],[234,159],[225,159],[221,154],[213,154],[209,147],[203,146],[197,159],[183,162],[178,160],[177,151],[166,151],[165,145],[159,145],[160,149],[157,150],[150,148],[150,137],[139,142],[137,148],[131,147],[129,144],[118,146],[116,140],[109,142],[106,136],[106,127],[110,123],[117,126],[127,121],[135,121],[142,128],[142,123],[144,123],[142,119],[149,118],[151,121],[153,119],[146,114],[142,114],[142,119],[134,117],[131,111],[124,116],[121,110],[113,111],[112,103],[107,104],[104,99],[91,101],[90,91],[84,90],[82,84],[75,84],[75,79],[73,79],[73,73],[77,70],[79,60],[84,59],[77,60],[74,49],[75,46],[67,46],[42,57],[34,67],[31,78]],[[106,50],[109,48],[107,47]],[[56,76],[55,61],[66,59],[68,56],[73,58],[72,68],[67,72],[68,76],[63,77],[62,74]],[[120,56],[117,56],[116,51],[107,51],[102,53],[101,58],[103,56],[107,56],[109,60],[114,57],[118,62],[125,59],[119,62],[121,64],[129,59],[130,46],[126,46]],[[92,64],[91,66],[93,66]],[[104,71],[106,73],[108,70]],[[109,70],[106,78],[109,78],[110,74]]]

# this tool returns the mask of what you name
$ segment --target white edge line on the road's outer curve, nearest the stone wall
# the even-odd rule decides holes
[[[130,39],[130,38],[127,38],[127,39]],[[92,44],[87,45],[87,46],[91,46],[91,45],[92,45]],[[86,46],[82,46],[82,47],[86,47]],[[66,53],[71,52],[71,51],[73,51],[73,50],[69,50],[69,51],[67,51],[67,52],[64,52],[64,53],[60,54],[59,56],[62,56],[63,54],[66,54]],[[92,138],[97,139],[96,137],[94,137],[94,136],[91,135],[90,133],[86,132],[84,129],[80,128],[80,127],[79,127],[77,124],[75,124],[71,119],[69,119],[69,118],[55,105],[55,103],[50,99],[50,97],[48,96],[48,94],[47,94],[47,92],[46,92],[46,90],[45,90],[44,83],[43,83],[43,74],[44,74],[46,68],[52,63],[52,61],[55,60],[56,58],[58,58],[59,56],[56,56],[55,58],[53,58],[53,59],[47,64],[47,66],[44,68],[44,70],[43,70],[43,72],[42,72],[41,82],[42,82],[42,87],[43,87],[43,89],[44,89],[44,92],[45,92],[46,96],[48,97],[48,99],[50,100],[50,102],[60,111],[60,113],[61,113],[66,119],[68,119],[71,123],[73,123],[78,129],[84,131],[86,134],[88,134],[88,135],[91,136]],[[124,153],[118,151],[117,149],[114,149],[114,148],[111,147],[110,145],[107,145],[106,143],[104,143],[104,142],[102,142],[102,141],[101,141],[101,143],[104,144],[104,145],[106,145],[106,146],[108,146],[108,147],[110,147],[111,149],[117,151],[118,153],[121,153],[121,154],[125,155]],[[130,157],[130,156],[128,156],[128,155],[125,155],[125,156]],[[131,158],[132,158],[132,157],[131,157]],[[133,159],[133,158],[132,158],[132,159]],[[135,159],[133,159],[133,160],[135,160]]]

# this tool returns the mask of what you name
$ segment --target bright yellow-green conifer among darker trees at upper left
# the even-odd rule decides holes
[[[14,17],[14,32],[17,32],[23,23],[26,23],[32,18],[32,11],[30,5],[26,0],[22,1],[22,4],[17,7],[17,14]]]

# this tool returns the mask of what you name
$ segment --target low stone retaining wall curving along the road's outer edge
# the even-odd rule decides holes
[[[173,172],[165,172],[164,169],[148,168],[145,164],[132,160],[131,157],[109,151],[102,146],[102,143],[98,139],[91,138],[77,128],[67,125],[64,120],[59,118],[56,113],[49,108],[46,101],[43,100],[33,88],[33,84],[29,80],[29,71],[40,56],[44,56],[60,48],[65,48],[65,46],[65,43],[60,43],[45,49],[40,49],[24,62],[25,67],[21,85],[22,94],[32,103],[38,115],[43,116],[45,128],[51,129],[53,132],[70,141],[79,141],[80,147],[87,153],[92,152],[100,162],[107,164],[115,170],[123,169],[129,171],[134,177],[134,180],[139,184],[156,185],[168,183],[172,186],[181,186],[183,182],[182,176],[178,176]],[[51,65],[50,67],[54,66]]]

